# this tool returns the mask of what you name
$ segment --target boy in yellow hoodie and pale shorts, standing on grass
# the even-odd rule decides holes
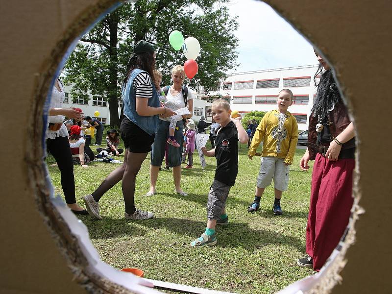
[[[256,149],[263,142],[263,159],[257,177],[255,198],[247,208],[256,212],[260,207],[260,199],[265,188],[274,182],[275,201],[273,214],[282,215],[280,199],[289,183],[289,165],[293,163],[294,152],[298,141],[298,124],[294,116],[287,111],[293,104],[293,92],[283,89],[277,98],[278,110],[265,114],[259,123],[250,145],[248,157],[252,159]]]

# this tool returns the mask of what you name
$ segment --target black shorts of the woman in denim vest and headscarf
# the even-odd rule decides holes
[[[148,135],[144,130],[124,117],[121,122],[121,139],[124,141],[125,149],[133,153],[148,153],[151,144],[154,143],[155,134]]]

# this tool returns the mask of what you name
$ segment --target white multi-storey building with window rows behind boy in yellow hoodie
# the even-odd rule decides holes
[[[252,110],[276,109],[280,90],[287,88],[294,94],[289,111],[298,122],[299,130],[308,128],[309,113],[316,94],[313,77],[318,65],[232,73],[221,83],[219,93],[231,99],[231,109],[245,114]],[[211,93],[210,93],[211,94]]]

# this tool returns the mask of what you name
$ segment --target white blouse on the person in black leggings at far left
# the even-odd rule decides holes
[[[59,91],[55,86],[52,88],[52,94],[50,97],[50,108],[63,108],[63,101],[65,98],[64,85],[63,83],[57,79],[58,85],[60,86],[61,91]],[[62,123],[64,122],[65,116],[63,115],[52,115],[48,116],[48,123],[46,128],[46,138],[45,139],[56,139],[56,137],[68,137],[68,130],[65,124],[61,125],[61,128],[58,131],[49,131],[49,123]]]

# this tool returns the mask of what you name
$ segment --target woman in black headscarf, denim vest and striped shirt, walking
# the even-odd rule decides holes
[[[84,196],[86,208],[91,217],[101,220],[98,201],[103,194],[122,180],[125,202],[124,217],[130,220],[147,220],[153,213],[135,207],[135,181],[143,161],[151,151],[158,123],[158,115],[170,117],[175,112],[161,107],[153,85],[155,49],[139,41],[133,47],[133,56],[127,64],[123,82],[124,115],[121,123],[121,138],[125,146],[124,163],[111,172],[96,191]]]

